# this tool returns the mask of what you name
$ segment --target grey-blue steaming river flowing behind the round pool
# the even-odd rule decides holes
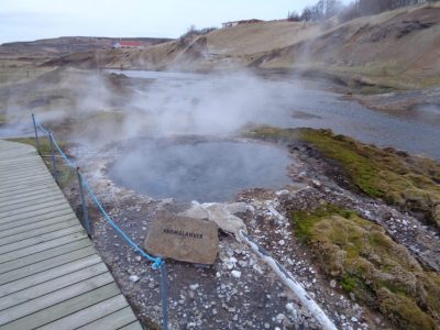
[[[208,127],[207,122],[201,125],[215,133],[217,129],[223,133],[224,127],[231,129],[226,133],[232,133],[249,123],[282,128],[324,128],[365,143],[393,146],[440,160],[438,106],[435,106],[436,111],[430,111],[430,116],[437,120],[427,121],[424,107],[416,107],[414,111],[419,111],[420,114],[414,113],[411,118],[380,112],[355,101],[344,100],[340,95],[326,90],[329,86],[316,81],[299,81],[295,78],[263,79],[249,74],[206,76],[156,72],[123,73],[155,81],[151,90],[154,95],[151,99],[153,105],[168,102],[169,107],[186,111],[194,108],[206,111],[218,106],[221,108],[218,112],[224,111],[224,118],[234,120],[228,122],[221,117],[217,118],[216,113],[208,113],[208,118],[213,118],[212,127]],[[164,95],[161,96],[161,92]],[[191,133],[207,132],[196,130]]]

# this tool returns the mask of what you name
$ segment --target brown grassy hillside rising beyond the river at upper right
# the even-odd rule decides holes
[[[431,25],[426,29],[419,24]],[[440,84],[439,35],[437,3],[343,24],[242,24],[196,37],[193,44],[175,41],[143,51],[112,52],[108,65],[147,69],[296,68],[366,85],[414,88]]]

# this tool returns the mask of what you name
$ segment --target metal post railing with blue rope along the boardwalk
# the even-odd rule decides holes
[[[38,132],[43,133],[43,135],[46,135],[50,140],[51,144],[51,157],[52,157],[52,172],[53,176],[55,178],[55,182],[59,185],[58,183],[58,170],[57,170],[57,164],[56,164],[56,152],[62,156],[64,160],[65,164],[74,169],[76,172],[76,177],[78,179],[78,186],[79,186],[79,195],[80,195],[80,201],[82,206],[82,218],[84,218],[84,228],[87,231],[87,234],[92,238],[94,237],[94,229],[92,226],[90,226],[90,220],[88,216],[88,207],[86,202],[86,193],[88,196],[91,198],[96,207],[99,209],[106,221],[118,232],[122,239],[139,254],[141,254],[143,257],[148,260],[150,262],[153,263],[152,267],[153,270],[158,270],[161,271],[161,300],[162,300],[162,328],[167,330],[168,329],[168,282],[167,282],[167,270],[166,270],[166,264],[164,260],[160,256],[153,256],[146,253],[141,246],[139,246],[132,239],[129,238],[129,235],[114,222],[112,218],[107,213],[105,208],[102,207],[101,202],[99,201],[98,197],[96,196],[95,191],[91,189],[90,185],[88,184],[87,179],[82,176],[82,174],[79,170],[79,167],[75,165],[74,162],[69,160],[69,157],[63,152],[62,147],[59,144],[56,142],[56,139],[50,130],[46,130],[36,119],[35,114],[32,113],[32,121],[33,121],[33,127],[34,127],[34,132],[35,132],[35,142],[36,142],[36,150],[38,152],[38,155],[42,156],[41,153],[41,136],[38,135]]]

